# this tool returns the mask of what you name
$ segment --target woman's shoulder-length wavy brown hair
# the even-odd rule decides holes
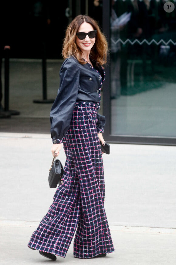
[[[90,58],[97,64],[103,65],[107,62],[108,45],[105,36],[101,32],[98,23],[87,15],[76,16],[66,29],[66,36],[63,41],[63,58],[70,56],[75,57],[81,64],[86,64],[82,58],[82,51],[76,44],[76,33],[82,23],[87,22],[92,25],[93,29],[97,31],[96,41],[90,51]]]

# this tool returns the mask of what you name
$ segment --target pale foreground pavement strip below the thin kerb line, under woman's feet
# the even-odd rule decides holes
[[[0,264],[51,264],[52,261],[27,247],[38,222],[0,221]],[[75,259],[73,242],[61,264],[175,265],[175,229],[110,226],[115,252],[103,258]]]

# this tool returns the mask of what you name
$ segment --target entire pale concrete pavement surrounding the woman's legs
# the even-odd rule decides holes
[[[27,243],[46,214],[52,161],[49,134],[0,133],[0,264],[48,264]],[[111,144],[103,155],[105,210],[115,252],[63,264],[176,264],[176,147]],[[65,162],[63,149],[59,159]]]

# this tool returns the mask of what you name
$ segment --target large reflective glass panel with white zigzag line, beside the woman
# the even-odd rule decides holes
[[[111,2],[113,135],[176,136],[176,8],[164,4]]]

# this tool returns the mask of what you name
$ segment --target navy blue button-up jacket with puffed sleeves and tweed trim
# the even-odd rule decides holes
[[[50,112],[53,143],[62,143],[69,129],[76,101],[93,102],[100,108],[100,90],[104,79],[105,73],[101,66],[92,67],[89,63],[82,65],[74,57],[63,62],[58,94]],[[97,132],[103,133],[105,117],[98,113],[97,120]]]

